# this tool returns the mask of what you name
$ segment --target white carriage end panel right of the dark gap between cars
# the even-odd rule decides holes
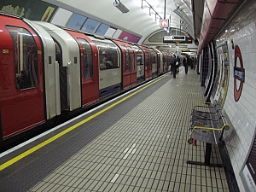
[[[35,21],[55,40],[56,59],[60,65],[61,111],[73,111],[82,106],[79,45],[61,28]]]

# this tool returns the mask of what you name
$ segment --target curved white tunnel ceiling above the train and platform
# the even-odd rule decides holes
[[[165,18],[165,13],[166,19],[169,19],[171,15],[171,27],[180,28],[182,22],[183,31],[194,38],[194,21],[190,0],[120,0],[129,9],[129,12],[125,14],[113,6],[115,0],[44,1],[134,33],[142,37],[139,41],[140,44],[145,38],[162,29],[159,20]],[[153,9],[149,9],[150,5]],[[176,13],[173,12],[174,10]]]

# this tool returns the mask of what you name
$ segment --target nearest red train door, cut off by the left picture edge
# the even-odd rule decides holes
[[[23,20],[0,17],[0,114],[3,139],[45,122],[42,45]]]

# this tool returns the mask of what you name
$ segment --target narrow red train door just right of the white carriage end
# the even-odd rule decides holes
[[[99,68],[96,44],[84,33],[68,31],[80,47],[82,105],[99,100]]]

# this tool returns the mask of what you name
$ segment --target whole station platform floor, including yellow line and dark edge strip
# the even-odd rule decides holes
[[[0,191],[228,192],[223,167],[187,164],[204,160],[205,143],[187,142],[203,95],[194,70],[155,79],[2,154]],[[215,145],[211,157],[222,163]]]

